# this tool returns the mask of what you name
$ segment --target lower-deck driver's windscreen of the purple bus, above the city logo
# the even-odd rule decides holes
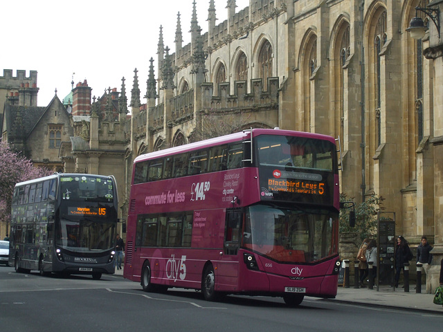
[[[243,246],[278,262],[312,263],[336,255],[336,212],[253,205],[246,211]]]

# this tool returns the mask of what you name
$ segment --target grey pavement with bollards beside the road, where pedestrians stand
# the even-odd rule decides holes
[[[116,269],[115,275],[123,276],[123,268]],[[426,286],[422,285],[422,292],[425,290]],[[380,285],[379,291],[377,291],[377,286],[374,286],[374,289],[338,286],[336,298],[327,299],[327,301],[379,308],[401,308],[424,313],[442,313],[443,315],[443,306],[433,304],[433,299],[433,294],[416,293],[415,285],[409,286],[409,293],[406,293],[401,286],[394,289]]]

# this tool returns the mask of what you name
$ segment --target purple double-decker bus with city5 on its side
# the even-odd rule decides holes
[[[124,277],[145,291],[335,297],[332,137],[251,129],[134,160]]]

